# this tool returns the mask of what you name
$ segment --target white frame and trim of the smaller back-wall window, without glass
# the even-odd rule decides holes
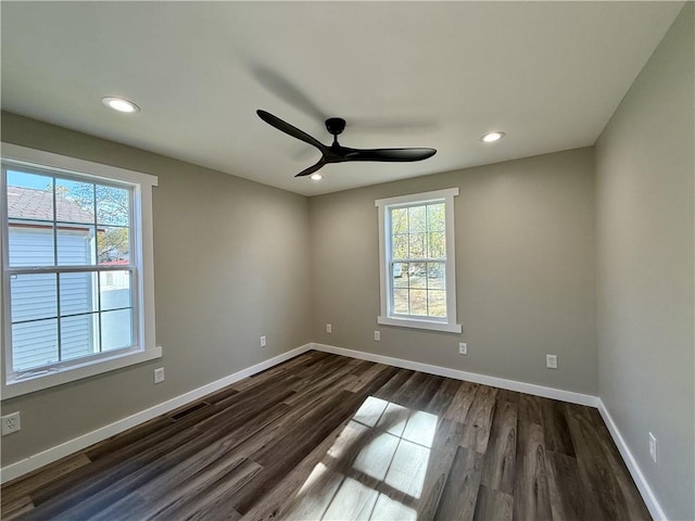
[[[380,278],[380,315],[377,323],[384,326],[397,326],[403,328],[426,329],[431,331],[444,331],[448,333],[460,333],[462,327],[456,322],[456,258],[454,232],[454,198],[458,195],[458,188],[435,190],[432,192],[414,193],[397,198],[378,199],[375,206],[379,214],[379,278]],[[390,266],[392,260],[391,252],[391,223],[389,209],[394,207],[414,206],[433,202],[444,203],[444,223],[446,226],[446,318],[437,319],[433,317],[414,318],[394,314],[392,309],[392,278]]]

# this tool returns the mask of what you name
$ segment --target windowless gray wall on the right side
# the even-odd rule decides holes
[[[596,147],[598,395],[674,520],[695,518],[693,24],[688,2]]]

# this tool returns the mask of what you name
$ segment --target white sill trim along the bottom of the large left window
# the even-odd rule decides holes
[[[2,385],[2,399],[14,398],[24,394],[34,393],[43,389],[54,387],[63,383],[74,382],[84,378],[102,374],[104,372],[134,366],[143,361],[162,357],[162,347],[156,346],[150,350],[122,353],[112,358],[101,358],[92,360],[81,366],[37,374],[35,377],[11,380]]]

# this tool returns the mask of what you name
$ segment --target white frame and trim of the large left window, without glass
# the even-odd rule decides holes
[[[135,345],[128,350],[119,350],[113,354],[77,359],[72,364],[56,364],[47,371],[23,374],[12,379],[12,367],[8,364],[12,350],[11,312],[10,312],[10,274],[8,269],[8,217],[7,217],[7,179],[2,176],[0,198],[3,205],[0,226],[0,258],[2,258],[2,276],[0,277],[0,294],[2,295],[1,338],[2,353],[2,399],[21,396],[42,389],[61,385],[84,378],[121,369],[135,364],[162,357],[162,347],[156,345],[154,326],[154,252],[152,244],[152,187],[156,187],[157,178],[148,174],[126,170],[115,166],[92,163],[40,150],[20,147],[11,143],[1,144],[2,161],[17,167],[40,169],[55,175],[89,177],[94,182],[116,182],[132,187],[132,225],[134,232],[131,253],[137,266],[132,297],[137,300],[134,308]]]

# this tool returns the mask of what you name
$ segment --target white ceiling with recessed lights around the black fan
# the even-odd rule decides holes
[[[593,144],[682,5],[3,1],[2,109],[312,195]],[[294,178],[318,152],[256,109],[438,153]]]

